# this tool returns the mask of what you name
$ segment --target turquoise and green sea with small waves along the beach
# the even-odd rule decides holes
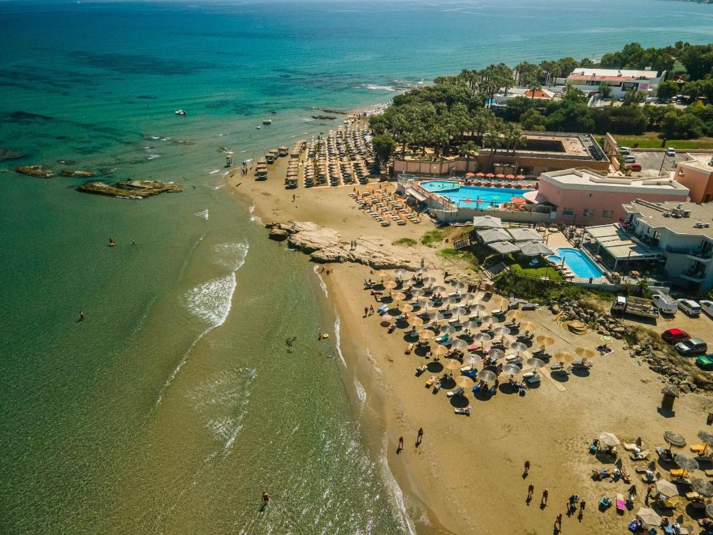
[[[428,533],[374,454],[317,275],[220,188],[221,149],[251,158],[339,123],[313,107],[439,73],[712,23],[658,0],[0,1],[0,532]],[[13,170],[60,159],[186,191]]]

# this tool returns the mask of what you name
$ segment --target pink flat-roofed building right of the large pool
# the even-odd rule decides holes
[[[533,203],[556,207],[559,223],[603,225],[625,215],[622,204],[634,199],[683,202],[688,188],[670,178],[605,176],[589,169],[565,169],[540,175],[539,189],[523,195]]]

